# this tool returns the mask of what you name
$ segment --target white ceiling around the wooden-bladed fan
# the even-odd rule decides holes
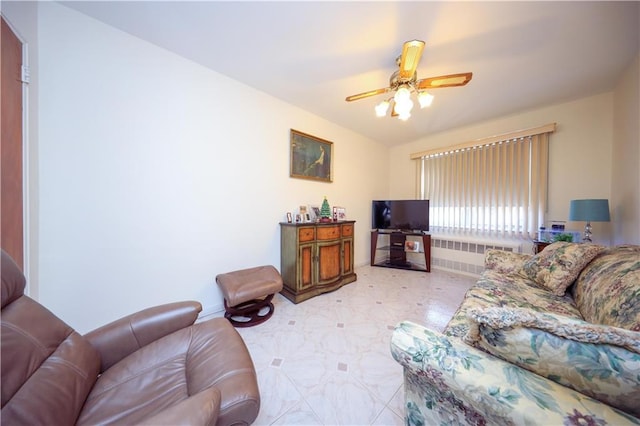
[[[611,90],[640,2],[70,1],[66,6],[386,145]],[[418,78],[473,72],[402,122],[377,118],[403,42]],[[224,102],[224,100],[221,100]]]

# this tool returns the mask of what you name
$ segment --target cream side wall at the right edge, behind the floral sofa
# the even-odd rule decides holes
[[[611,210],[616,244],[640,244],[640,56],[614,91]]]

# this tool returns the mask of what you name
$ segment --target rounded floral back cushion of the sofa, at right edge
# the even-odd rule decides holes
[[[583,269],[573,297],[585,320],[640,331],[640,246],[602,252]]]

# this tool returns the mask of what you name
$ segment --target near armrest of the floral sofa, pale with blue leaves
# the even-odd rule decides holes
[[[404,368],[409,424],[628,424],[638,420],[457,338],[402,322],[391,337]],[[601,423],[598,423],[602,421]]]

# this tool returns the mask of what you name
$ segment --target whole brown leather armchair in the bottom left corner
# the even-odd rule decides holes
[[[2,251],[2,423],[248,425],[260,394],[244,341],[202,307],[146,309],[81,336],[25,296]]]

